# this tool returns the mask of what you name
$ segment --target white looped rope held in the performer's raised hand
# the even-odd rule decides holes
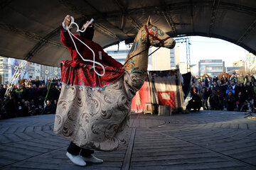
[[[72,36],[75,37],[75,38],[76,38],[77,40],[79,40],[83,45],[85,45],[87,48],[89,48],[89,50],[92,51],[93,60],[86,60],[86,59],[84,59],[84,58],[82,57],[82,55],[80,55],[80,52],[78,52],[78,48],[77,48],[76,45],[75,45],[75,50],[76,50],[76,52],[78,52],[78,55],[82,58],[82,60],[85,61],[85,62],[92,62],[92,63],[93,63],[93,69],[94,69],[95,73],[96,73],[98,76],[101,76],[101,77],[102,77],[102,76],[105,74],[105,67],[104,67],[100,62],[95,62],[95,52],[94,52],[90,47],[88,47],[88,45],[86,45],[85,42],[82,42],[79,38],[77,38],[75,35],[73,35],[73,33],[70,32],[70,28],[72,28],[71,26],[74,24],[74,25],[77,26],[77,28],[78,28],[77,32],[82,32],[82,33],[83,33],[83,32],[85,32],[86,28],[87,28],[88,26],[90,26],[90,24],[92,23],[92,21],[93,21],[93,19],[91,19],[90,22],[85,26],[84,30],[80,30],[78,24],[74,22],[73,16],[71,16],[71,23],[70,23],[70,25],[69,25],[69,26],[65,26],[64,23],[63,23],[63,27],[64,27],[66,30],[68,30],[68,34],[70,35],[70,38],[71,38],[71,40],[73,41],[74,45],[75,45],[75,41],[73,40]],[[98,64],[98,65],[100,65],[100,66],[102,67],[102,69],[103,69],[103,73],[102,73],[102,74],[100,74],[100,73],[98,73],[98,72],[96,71],[96,69],[95,69],[95,63]]]

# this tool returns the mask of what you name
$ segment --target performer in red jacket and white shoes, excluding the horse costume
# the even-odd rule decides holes
[[[75,37],[84,42],[88,47],[90,47],[91,50],[93,50],[93,52],[95,53],[95,58],[93,58],[92,51],[87,46],[83,45],[76,38],[73,38],[79,53],[82,55],[82,57],[80,57],[72,39],[70,38],[70,35],[68,34],[68,30],[65,30],[66,26],[70,26],[70,23],[71,16],[65,16],[63,21],[63,28],[60,29],[60,41],[63,42],[63,44],[68,48],[72,58],[71,61],[64,61],[66,65],[70,65],[73,68],[78,68],[85,67],[86,64],[92,64],[91,62],[85,62],[84,60],[82,60],[83,57],[86,60],[95,60],[95,62],[100,62],[105,66],[110,66],[117,70],[122,69],[121,63],[117,62],[112,57],[107,55],[107,53],[104,52],[100,45],[98,45],[96,42],[93,42],[92,39],[95,32],[95,26],[93,23],[90,23],[90,19],[88,18],[83,18],[80,22],[80,30],[83,30],[85,29],[85,27],[87,27],[85,32],[80,32],[80,35],[75,34]],[[87,26],[89,23],[90,25]],[[62,76],[69,77],[68,74]],[[104,77],[104,75],[102,77]],[[95,80],[92,79],[90,81]],[[103,160],[95,157],[93,153],[94,150],[92,150],[91,148],[86,148],[86,146],[80,147],[76,145],[74,142],[70,142],[70,145],[68,146],[66,152],[66,156],[70,159],[71,162],[73,162],[73,164],[76,164],[78,166],[85,166],[86,162],[102,163]]]

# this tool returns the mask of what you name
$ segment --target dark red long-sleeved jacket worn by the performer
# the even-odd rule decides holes
[[[114,60],[112,57],[107,55],[106,52],[102,49],[100,45],[98,45],[96,42],[93,42],[91,40],[88,40],[86,38],[82,38],[79,35],[75,34],[77,38],[82,40],[82,42],[85,42],[86,45],[88,45],[94,52],[95,52],[95,61],[100,62],[102,64],[105,64],[107,66],[116,67],[117,69],[122,68],[122,64]],[[73,40],[75,41],[75,45],[78,48],[78,52],[85,60],[93,60],[93,54],[92,51],[87,48],[85,45],[82,44],[79,40],[73,37]],[[82,60],[80,55],[78,55],[78,52],[75,50],[75,46],[73,44],[73,41],[70,38],[70,35],[68,35],[68,31],[64,30],[63,28],[60,29],[60,41],[63,42],[63,44],[68,47],[68,50],[70,51],[70,55],[72,57],[73,64],[72,66],[75,67],[78,65],[78,63],[85,63],[85,64],[93,64],[92,62],[85,62]],[[100,60],[99,52],[102,52],[102,60]],[[98,66],[98,64],[95,64],[95,66]]]

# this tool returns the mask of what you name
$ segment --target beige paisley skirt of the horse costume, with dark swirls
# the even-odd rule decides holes
[[[65,72],[63,69],[73,69],[70,77],[77,77],[77,72],[85,73],[85,77],[92,76],[86,72],[87,67],[62,67],[62,74]],[[69,82],[62,81],[54,132],[87,149],[112,151],[125,147],[129,136],[132,98],[144,79],[122,72],[118,79],[105,81],[105,85],[88,86],[85,81],[77,81],[82,84]]]

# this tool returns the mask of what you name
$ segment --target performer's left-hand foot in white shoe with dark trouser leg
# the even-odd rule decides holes
[[[78,147],[78,145],[75,145],[73,142],[70,142],[70,145],[67,149],[68,152],[66,153],[66,155],[70,159],[70,161],[73,162],[73,164],[85,166],[85,161],[82,159],[82,157],[80,157],[81,149],[82,148]]]

